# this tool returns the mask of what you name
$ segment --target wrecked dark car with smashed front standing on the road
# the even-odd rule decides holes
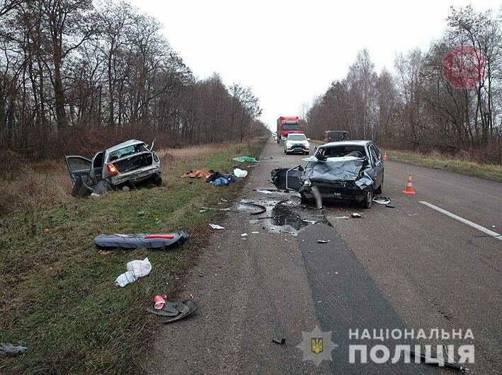
[[[279,189],[297,190],[302,202],[321,199],[355,200],[370,208],[384,183],[382,154],[371,141],[331,142],[303,159],[307,166],[272,171]]]

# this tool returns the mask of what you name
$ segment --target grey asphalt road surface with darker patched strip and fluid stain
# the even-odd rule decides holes
[[[455,350],[474,344],[476,362],[469,369],[500,373],[502,241],[421,203],[500,233],[500,184],[388,161],[383,195],[392,198],[394,209],[331,204],[319,211],[300,207],[294,196],[256,191],[273,188],[268,182],[271,170],[303,163],[304,156],[285,156],[270,141],[262,157],[246,178],[242,197],[266,205],[267,212],[230,212],[215,223],[225,229],[210,238],[211,245],[182,292],[193,294],[200,310],[156,333],[145,371],[450,373],[426,364],[405,364],[402,358],[395,364],[390,359],[375,364],[369,355],[367,364],[348,361],[349,345],[368,345],[368,354],[373,345],[387,345],[392,358],[396,344],[444,343],[455,345]],[[401,193],[409,173],[416,195]],[[339,218],[352,212],[363,218]],[[318,243],[319,239],[329,242]],[[302,332],[316,326],[331,331],[338,345],[331,353],[333,360],[319,366],[303,361],[297,347]],[[382,342],[348,335],[350,329],[362,333],[365,328],[422,328],[427,333],[469,328],[474,340]],[[282,337],[285,345],[272,342]]]

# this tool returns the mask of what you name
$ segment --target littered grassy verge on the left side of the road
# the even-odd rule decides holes
[[[161,188],[64,200],[2,217],[0,342],[21,341],[28,351],[0,358],[0,373],[137,372],[159,324],[144,309],[152,296],[175,292],[175,277],[195,260],[210,233],[207,222],[219,214],[199,212],[200,205],[231,199],[241,185],[214,188],[178,175],[202,167],[230,170],[232,158],[257,156],[263,144],[161,151]],[[181,228],[190,241],[176,250],[98,253],[92,242],[99,233]],[[152,262],[147,277],[113,285],[126,262],[145,257]]]

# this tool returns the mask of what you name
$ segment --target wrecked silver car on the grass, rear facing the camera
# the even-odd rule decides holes
[[[100,195],[106,190],[135,188],[137,185],[161,185],[159,156],[142,141],[130,139],[98,151],[92,159],[66,155],[74,197]]]

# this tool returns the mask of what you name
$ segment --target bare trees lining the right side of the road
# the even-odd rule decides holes
[[[394,74],[380,74],[361,50],[345,79],[316,98],[304,121],[311,137],[346,129],[353,139],[417,151],[438,150],[501,163],[502,8],[451,8],[445,34],[428,52],[396,54]],[[455,46],[475,47],[484,74],[473,88],[454,88],[443,76],[443,57]],[[481,72],[483,73],[483,72]]]

